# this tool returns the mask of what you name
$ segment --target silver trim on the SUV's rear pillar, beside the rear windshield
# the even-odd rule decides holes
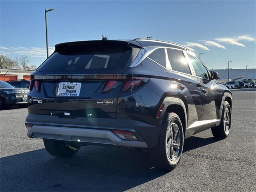
[[[144,61],[154,50],[157,50],[159,48],[164,48],[164,47],[159,47],[159,46],[148,46],[144,47],[140,50],[130,67],[136,67],[138,66],[142,61]]]

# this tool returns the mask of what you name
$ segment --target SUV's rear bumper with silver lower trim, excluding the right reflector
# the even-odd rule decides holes
[[[59,118],[58,116],[28,114],[26,124],[32,124],[27,132],[31,138],[47,138],[93,144],[110,144],[134,148],[157,146],[160,129],[128,119],[108,118]],[[122,140],[112,130],[132,132],[138,140]]]

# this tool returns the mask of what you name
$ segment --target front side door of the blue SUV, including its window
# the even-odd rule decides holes
[[[210,72],[204,64],[194,55],[187,54],[197,79],[197,86],[202,93],[202,107],[200,120],[217,119],[215,98],[218,97],[219,89],[216,80],[210,78]]]

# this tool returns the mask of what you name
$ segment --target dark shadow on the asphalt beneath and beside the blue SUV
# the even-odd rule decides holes
[[[192,136],[184,152],[216,142]],[[72,158],[43,148],[0,159],[0,191],[124,191],[168,172],[152,168],[147,153],[83,146]]]

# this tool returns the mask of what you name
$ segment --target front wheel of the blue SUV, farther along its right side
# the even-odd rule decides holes
[[[226,114],[227,110],[228,110],[228,115]],[[229,116],[229,118],[227,118],[227,116]],[[227,126],[228,126],[228,130],[227,130]],[[212,134],[216,139],[225,139],[230,133],[230,128],[231,128],[231,108],[229,103],[225,101],[222,109],[220,125],[212,128]]]

